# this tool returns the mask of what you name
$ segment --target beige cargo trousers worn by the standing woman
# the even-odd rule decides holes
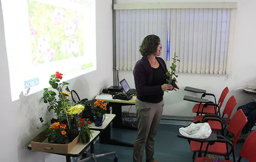
[[[135,100],[138,134],[133,149],[133,162],[142,162],[144,148],[146,160],[154,160],[155,135],[162,117],[163,105],[163,100],[156,104]]]

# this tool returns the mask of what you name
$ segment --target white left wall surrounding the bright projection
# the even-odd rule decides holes
[[[67,81],[69,88],[75,89],[81,98],[92,99],[102,88],[113,85],[111,5],[112,0],[96,0],[97,70]],[[11,101],[2,7],[0,9],[0,162],[64,162],[65,156],[27,149],[27,144],[39,133],[36,127],[41,125],[40,116],[49,118],[52,114],[47,112],[46,104],[39,103],[42,91]]]

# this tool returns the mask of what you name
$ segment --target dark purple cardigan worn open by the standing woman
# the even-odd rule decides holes
[[[168,72],[166,64],[161,57],[155,57],[159,62],[165,73]],[[134,70],[134,81],[137,95],[154,95],[155,93],[162,92],[161,85],[151,86],[153,78],[153,70],[148,61],[147,56],[143,56],[138,62],[136,62]],[[166,75],[166,79],[169,77]]]

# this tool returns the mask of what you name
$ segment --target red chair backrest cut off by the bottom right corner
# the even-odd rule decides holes
[[[249,162],[256,162],[256,130],[251,132],[246,138],[239,155]]]

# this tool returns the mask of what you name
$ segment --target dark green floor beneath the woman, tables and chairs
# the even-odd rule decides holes
[[[159,162],[192,162],[193,153],[190,151],[187,140],[177,137],[179,125],[160,124],[155,139],[155,159]],[[112,138],[128,143],[134,143],[137,132],[133,130],[113,129]],[[238,160],[243,143],[237,143],[235,152]],[[132,162],[133,148],[113,146],[96,143],[95,154],[115,151],[118,162]],[[145,156],[145,155],[144,155]],[[230,156],[231,158],[231,156]],[[97,159],[97,162],[113,162],[114,156],[106,156]],[[145,157],[144,157],[145,162]],[[248,162],[243,159],[242,162]]]

